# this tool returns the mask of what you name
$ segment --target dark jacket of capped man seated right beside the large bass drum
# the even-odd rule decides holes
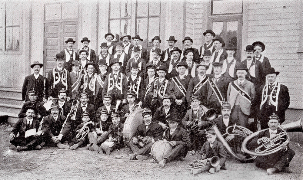
[[[146,129],[145,123],[142,123],[137,127],[137,131],[133,137],[137,136],[150,136],[154,137],[155,141],[158,141],[158,139],[163,136],[163,129],[158,123],[155,123],[154,121],[151,121],[148,129]]]

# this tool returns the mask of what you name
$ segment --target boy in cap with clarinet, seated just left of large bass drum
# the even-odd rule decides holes
[[[114,149],[119,149],[123,146],[123,124],[119,120],[119,114],[116,112],[111,113],[112,124],[108,128],[108,139],[101,144],[101,148],[109,155]],[[119,137],[120,136],[120,137]],[[118,140],[120,139],[120,142]],[[114,142],[113,146],[108,142]],[[101,151],[103,153],[103,151]]]

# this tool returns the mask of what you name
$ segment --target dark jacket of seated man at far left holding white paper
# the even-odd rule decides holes
[[[25,131],[27,131],[29,129],[34,129],[34,128],[36,128],[36,130],[38,130],[39,125],[40,125],[39,121],[34,118],[32,120],[31,128],[27,128],[26,117],[23,117],[23,118],[18,119],[17,123],[15,123],[11,133],[15,134],[15,136],[17,136],[17,134],[19,133],[20,137],[24,137]]]

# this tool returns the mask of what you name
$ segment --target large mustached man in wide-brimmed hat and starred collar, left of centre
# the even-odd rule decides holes
[[[122,100],[122,103],[127,102],[127,79],[125,74],[120,71],[122,62],[117,58],[112,58],[109,64],[109,68],[112,72],[109,73],[104,82],[102,97],[105,93],[112,94],[112,101],[115,103],[117,99]]]

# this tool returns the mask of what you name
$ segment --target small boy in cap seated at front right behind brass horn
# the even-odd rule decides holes
[[[212,158],[214,156],[218,156],[220,159],[219,165],[212,167],[210,163],[205,166],[197,169],[191,169],[191,173],[196,175],[201,172],[209,171],[211,174],[215,172],[219,172],[220,169],[225,169],[225,161],[227,153],[224,149],[224,146],[221,142],[217,141],[217,135],[215,131],[212,129],[205,129],[205,136],[207,142],[205,142],[202,146],[201,151],[199,151],[197,160],[201,160],[203,155],[206,155],[205,158]]]

